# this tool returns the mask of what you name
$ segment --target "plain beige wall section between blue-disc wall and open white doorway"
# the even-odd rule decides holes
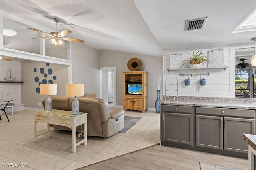
[[[84,93],[100,97],[100,52],[82,43],[72,43],[73,83],[83,83]]]

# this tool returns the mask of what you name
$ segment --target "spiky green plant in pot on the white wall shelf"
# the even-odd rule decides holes
[[[186,51],[186,53],[188,53]],[[193,68],[195,71],[195,74],[198,74],[198,69],[196,64],[202,64],[204,66],[205,63],[208,63],[208,59],[206,56],[206,53],[203,53],[202,50],[197,51],[196,53],[190,54],[188,53],[189,57],[184,59],[183,64],[180,66],[180,68],[185,65],[189,64],[188,68]]]

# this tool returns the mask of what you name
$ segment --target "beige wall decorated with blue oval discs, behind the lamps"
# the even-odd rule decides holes
[[[34,68],[37,69],[34,72]],[[52,69],[52,74],[44,77],[44,74],[40,73],[40,68],[44,68],[44,73],[47,74],[47,70],[49,68]],[[21,102],[25,104],[25,107],[32,108],[43,108],[42,106],[38,106],[46,95],[40,95],[36,92],[36,88],[40,87],[39,82],[35,82],[35,77],[39,78],[39,82],[42,82],[43,79],[52,80],[53,84],[58,84],[57,86],[57,94],[58,96],[66,95],[66,84],[68,83],[68,66],[64,66],[61,64],[52,64],[46,66],[45,62],[38,61],[22,61],[21,62],[21,79],[23,81],[21,86]],[[56,76],[57,79],[53,80],[53,76]]]

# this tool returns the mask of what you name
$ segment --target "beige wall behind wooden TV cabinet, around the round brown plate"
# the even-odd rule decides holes
[[[122,72],[130,71],[127,67],[127,62],[131,58],[138,58],[142,62],[140,70],[148,72],[148,107],[155,107],[156,100],[156,72],[159,71],[159,67],[162,68],[162,57],[155,57],[149,55],[139,55],[132,53],[123,53],[118,51],[100,51],[100,67],[116,67],[116,101],[117,105],[122,106],[123,94],[122,94]],[[162,70],[162,69],[161,69]],[[162,96],[162,89],[161,89]]]

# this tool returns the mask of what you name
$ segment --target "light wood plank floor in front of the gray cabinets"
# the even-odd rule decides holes
[[[156,145],[78,170],[200,170],[199,162],[248,170],[248,160],[231,156]]]

